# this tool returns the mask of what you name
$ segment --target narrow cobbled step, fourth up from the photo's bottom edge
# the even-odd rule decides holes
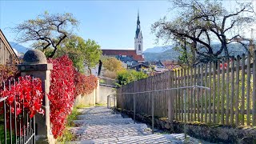
[[[122,118],[121,114],[109,114],[109,115],[78,115],[79,120],[93,120],[93,119],[111,119],[111,118]]]

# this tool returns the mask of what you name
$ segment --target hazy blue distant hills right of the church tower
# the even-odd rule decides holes
[[[220,49],[221,45],[220,44],[214,44],[214,52]],[[230,55],[242,55],[246,54],[246,50],[244,47],[242,47],[238,43],[232,43],[228,45],[228,50],[230,52]],[[223,51],[222,51],[223,54]],[[171,46],[169,46],[167,49],[165,46],[156,46],[154,48],[150,48],[149,50],[146,49],[144,51],[144,58],[148,62],[153,62],[153,61],[166,61],[166,60],[178,60],[178,56],[180,54],[178,51],[173,50]]]

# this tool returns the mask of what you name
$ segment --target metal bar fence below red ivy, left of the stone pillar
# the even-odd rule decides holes
[[[32,78],[32,81],[34,78]],[[18,81],[19,82],[19,81]],[[15,80],[3,82],[2,89],[10,90],[10,86],[15,86]],[[16,95],[15,95],[16,97]],[[18,104],[14,97],[14,106],[8,104],[8,96],[0,98],[0,143],[35,143],[35,118],[30,118],[28,111],[24,110],[24,98]],[[22,110],[17,112],[17,110]],[[18,114],[20,113],[20,114]]]

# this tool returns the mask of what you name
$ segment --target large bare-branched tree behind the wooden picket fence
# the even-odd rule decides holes
[[[245,27],[255,22],[251,2],[238,3],[234,10],[226,10],[222,2],[199,0],[174,0],[173,19],[161,18],[152,25],[157,39],[176,42],[183,58],[192,55],[195,62],[216,61],[221,54],[230,57],[227,46],[240,43],[246,50]],[[214,49],[212,42],[221,45]]]

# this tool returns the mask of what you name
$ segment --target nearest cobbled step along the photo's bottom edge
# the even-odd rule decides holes
[[[170,143],[170,144],[179,144],[182,143],[181,140],[178,140],[171,134],[150,134],[143,136],[125,136],[118,138],[98,138],[93,140],[82,140],[70,142],[74,144],[98,144],[98,143]]]

